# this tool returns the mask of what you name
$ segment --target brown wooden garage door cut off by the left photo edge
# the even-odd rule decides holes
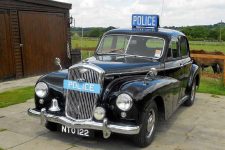
[[[0,10],[0,80],[14,76],[10,43],[9,14]]]

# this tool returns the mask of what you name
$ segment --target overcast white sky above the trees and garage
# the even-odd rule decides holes
[[[161,26],[225,22],[225,0],[164,0],[164,5],[163,0],[56,1],[72,4],[70,13],[79,27],[130,27],[131,15],[134,13],[158,14]]]

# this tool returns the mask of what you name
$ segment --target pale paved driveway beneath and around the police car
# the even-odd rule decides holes
[[[225,97],[197,94],[192,107],[180,107],[160,122],[149,150],[225,149]],[[49,132],[26,110],[33,100],[0,109],[0,147],[15,150],[138,149],[127,136],[81,138]]]

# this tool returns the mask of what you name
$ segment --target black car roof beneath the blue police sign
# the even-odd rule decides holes
[[[165,28],[132,28],[132,29],[113,29],[106,32],[108,34],[129,34],[129,35],[148,35],[148,36],[159,36],[165,38],[185,36],[182,32],[172,29]]]

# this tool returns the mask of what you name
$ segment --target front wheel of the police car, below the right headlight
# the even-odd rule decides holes
[[[154,101],[151,101],[142,113],[142,126],[139,134],[134,136],[134,142],[139,147],[146,147],[153,141],[158,123],[158,109]]]

